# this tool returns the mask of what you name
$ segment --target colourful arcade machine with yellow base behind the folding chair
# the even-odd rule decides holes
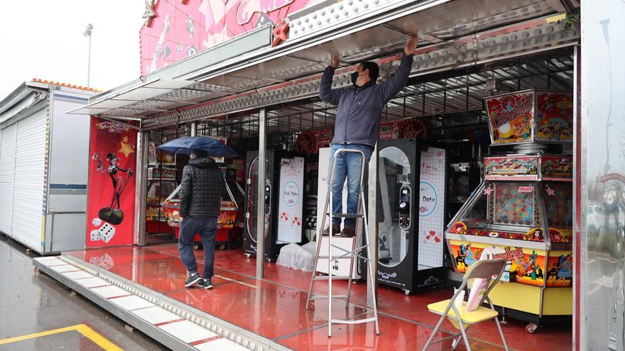
[[[489,296],[533,333],[572,314],[572,156],[546,152],[572,143],[572,94],[518,91],[484,107],[491,143],[514,152],[484,157],[482,182],[447,225],[447,246],[459,273],[484,250],[508,260]]]

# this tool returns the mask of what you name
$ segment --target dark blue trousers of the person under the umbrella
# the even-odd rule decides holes
[[[185,217],[180,223],[178,250],[180,259],[190,273],[197,272],[197,262],[193,255],[193,237],[200,233],[204,247],[204,279],[211,279],[214,264],[214,240],[217,234],[217,217]]]

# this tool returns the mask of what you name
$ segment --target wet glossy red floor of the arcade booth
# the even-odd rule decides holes
[[[304,308],[310,272],[266,263],[265,279],[255,279],[254,257],[248,258],[240,250],[217,250],[214,289],[206,291],[185,289],[185,268],[174,244],[65,253],[293,350],[421,350],[437,322],[437,316],[428,312],[428,303],[452,295],[451,288],[406,296],[403,291],[381,286],[380,335],[375,335],[373,323],[366,323],[332,325],[332,338],[327,338],[327,301],[317,300],[310,311]],[[198,263],[202,255],[196,251]],[[333,285],[336,294],[342,294],[345,282]],[[324,288],[322,284],[319,287]],[[365,289],[366,284],[353,286],[349,309],[340,301],[333,303],[333,317],[364,316]],[[519,321],[503,325],[511,350],[571,350],[570,324],[548,325],[535,334],[526,333],[525,325]],[[454,328],[446,321],[443,330]],[[494,323],[476,325],[468,334],[473,350],[503,350]],[[447,335],[443,331],[439,336]],[[451,340],[447,340],[430,350],[449,350],[450,345]],[[464,345],[458,350],[464,350]]]

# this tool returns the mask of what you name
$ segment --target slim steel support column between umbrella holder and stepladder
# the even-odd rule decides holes
[[[259,113],[259,183],[256,184],[258,199],[256,201],[256,278],[263,278],[265,257],[265,183],[267,160],[267,108]]]

